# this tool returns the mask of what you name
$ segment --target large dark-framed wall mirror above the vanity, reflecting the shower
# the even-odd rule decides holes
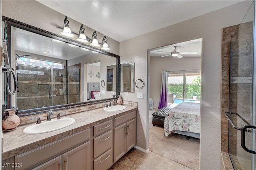
[[[3,16],[9,60],[18,77],[7,108],[19,114],[104,102],[120,89],[120,57]],[[102,87],[112,65],[112,92]],[[115,83],[115,85],[113,85]],[[94,93],[92,93],[94,92]]]

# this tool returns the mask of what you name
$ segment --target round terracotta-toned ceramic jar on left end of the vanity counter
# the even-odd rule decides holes
[[[15,130],[20,125],[20,118],[18,117],[18,109],[11,108],[4,110],[4,119],[2,121],[2,127],[7,131]]]

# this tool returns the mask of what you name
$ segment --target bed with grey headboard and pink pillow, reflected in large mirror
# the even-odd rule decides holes
[[[87,83],[87,100],[100,99],[100,82]]]

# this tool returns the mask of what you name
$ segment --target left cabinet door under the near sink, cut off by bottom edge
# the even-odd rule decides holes
[[[62,160],[61,156],[58,156],[48,162],[45,162],[42,165],[33,168],[32,170],[61,170],[62,169]]]

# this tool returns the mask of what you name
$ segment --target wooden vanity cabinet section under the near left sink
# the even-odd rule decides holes
[[[90,128],[15,156],[15,170],[90,169]],[[61,162],[57,157],[61,157]],[[59,165],[58,165],[59,164]],[[48,168],[49,167],[49,168]]]

